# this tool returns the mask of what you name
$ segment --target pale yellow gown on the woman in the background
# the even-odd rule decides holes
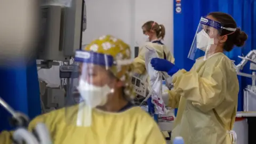
[[[140,47],[138,57],[135,58],[133,61],[133,72],[135,74],[139,74],[139,77],[143,81],[147,81],[148,89],[150,89],[150,87],[149,87],[150,79],[147,75],[147,70],[146,70],[146,66],[145,66],[145,53],[146,53],[146,51],[148,51],[145,47],[146,45],[149,47],[153,47],[156,50],[158,57],[161,59],[164,58],[164,53],[166,55],[166,60],[174,63],[175,59],[174,59],[172,53],[170,52],[170,50],[168,50],[165,45],[161,45],[158,43],[152,43],[152,42],[146,42],[143,46]]]

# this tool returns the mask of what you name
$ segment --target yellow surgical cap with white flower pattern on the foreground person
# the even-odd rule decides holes
[[[131,61],[131,50],[130,46],[124,43],[121,39],[115,38],[114,36],[105,35],[92,41],[89,45],[84,47],[85,51],[93,51],[102,54],[111,55],[114,61]],[[124,86],[124,93],[126,98],[134,98],[133,85],[131,84],[132,76],[132,64],[126,63],[123,65],[113,65],[110,71],[121,80]]]

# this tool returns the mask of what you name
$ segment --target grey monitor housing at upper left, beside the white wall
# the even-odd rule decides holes
[[[41,7],[41,37],[37,59],[69,61],[81,49],[82,32],[86,29],[84,0],[72,0],[70,6]]]

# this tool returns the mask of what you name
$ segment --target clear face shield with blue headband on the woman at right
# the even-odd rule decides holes
[[[188,58],[196,60],[203,57],[204,60],[210,58],[211,55],[217,52],[222,52],[219,47],[220,35],[222,29],[227,29],[232,33],[236,28],[222,27],[221,23],[208,18],[201,17],[196,35],[190,47]]]

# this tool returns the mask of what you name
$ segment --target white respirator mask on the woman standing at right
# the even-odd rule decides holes
[[[210,36],[202,29],[199,33],[196,34],[196,47],[202,51],[206,51],[206,46],[214,44],[214,38]]]

